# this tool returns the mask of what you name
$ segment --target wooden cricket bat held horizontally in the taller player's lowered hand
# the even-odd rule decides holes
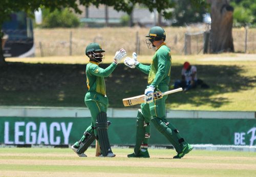
[[[178,88],[178,89],[174,89],[174,90],[164,92],[164,93],[155,92],[154,93],[154,100],[163,98],[164,95],[173,94],[173,93],[180,92],[180,91],[182,91],[181,87]],[[123,105],[124,106],[133,106],[133,105],[136,105],[136,104],[144,103],[144,97],[145,97],[145,95],[139,95],[139,96],[136,96],[136,97],[124,98],[123,99]]]

